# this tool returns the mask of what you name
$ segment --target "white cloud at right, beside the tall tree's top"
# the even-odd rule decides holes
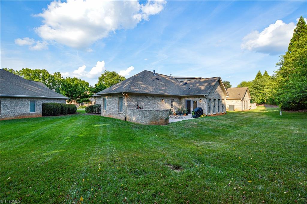
[[[286,24],[282,20],[277,20],[260,33],[253,31],[243,37],[241,49],[269,54],[284,53],[287,51],[295,26],[293,22]]]

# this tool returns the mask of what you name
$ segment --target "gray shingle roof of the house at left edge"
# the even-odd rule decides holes
[[[26,80],[4,69],[0,69],[0,96],[2,97],[31,97],[31,98],[64,98],[49,89],[39,81]]]

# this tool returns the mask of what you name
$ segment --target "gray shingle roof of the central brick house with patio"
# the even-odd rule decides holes
[[[153,72],[145,70],[94,96],[121,92],[173,96],[204,95],[211,91],[218,80],[220,77],[178,81],[173,77],[157,73],[154,75]]]

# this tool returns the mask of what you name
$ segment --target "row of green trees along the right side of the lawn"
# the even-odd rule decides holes
[[[303,17],[276,66],[272,76],[259,71],[254,80],[242,81],[238,87],[248,87],[252,102],[257,104],[276,104],[283,110],[307,109],[307,25]]]

